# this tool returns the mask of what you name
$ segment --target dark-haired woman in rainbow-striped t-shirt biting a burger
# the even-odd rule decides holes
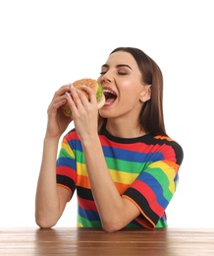
[[[109,232],[166,227],[183,149],[165,131],[161,70],[140,49],[120,47],[102,65],[98,82],[106,96],[101,109],[93,90],[83,88],[88,100],[69,85],[48,107],[36,224],[57,224],[77,189],[78,226]],[[72,118],[62,112],[65,103]],[[62,139],[57,156],[72,121],[75,128]]]

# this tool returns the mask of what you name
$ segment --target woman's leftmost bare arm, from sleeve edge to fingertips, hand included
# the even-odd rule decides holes
[[[61,217],[70,192],[56,183],[56,159],[59,139],[72,121],[61,109],[69,86],[57,91],[48,107],[48,123],[43,142],[43,154],[35,195],[35,222],[40,227],[51,227]],[[59,110],[58,110],[59,109]]]

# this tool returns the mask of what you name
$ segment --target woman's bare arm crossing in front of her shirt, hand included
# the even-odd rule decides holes
[[[139,215],[139,210],[129,199],[121,197],[110,176],[97,134],[96,98],[92,90],[85,87],[85,91],[89,95],[89,101],[79,90],[72,89],[68,102],[80,136],[102,227],[112,232],[133,221]]]

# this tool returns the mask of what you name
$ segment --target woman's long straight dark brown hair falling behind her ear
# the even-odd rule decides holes
[[[117,51],[131,53],[141,72],[142,84],[151,85],[151,98],[143,103],[139,114],[140,126],[146,133],[167,135],[163,115],[163,75],[159,66],[138,48],[118,47],[110,55]]]

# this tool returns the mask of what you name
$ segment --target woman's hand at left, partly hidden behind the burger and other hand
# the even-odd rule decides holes
[[[67,102],[67,92],[70,92],[69,85],[61,87],[53,96],[52,101],[47,109],[48,122],[46,129],[46,137],[59,138],[67,129],[68,125],[73,120],[65,116],[61,106]]]

